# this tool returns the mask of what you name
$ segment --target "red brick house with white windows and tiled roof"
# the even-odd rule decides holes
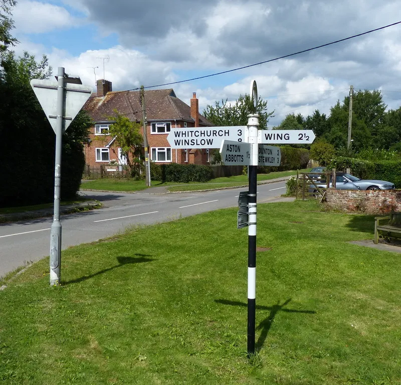
[[[146,132],[149,157],[156,163],[210,164],[211,149],[172,149],[167,141],[171,128],[211,127],[213,124],[199,114],[198,99],[193,93],[190,106],[175,96],[172,89],[145,91]],[[85,103],[86,110],[94,121],[88,143],[85,145],[85,160],[90,166],[117,161],[125,164],[121,149],[115,138],[108,134],[113,123],[108,119],[117,110],[131,121],[140,123],[142,107],[139,91],[113,92],[109,81],[97,81],[97,94]],[[143,136],[143,128],[141,128]]]

